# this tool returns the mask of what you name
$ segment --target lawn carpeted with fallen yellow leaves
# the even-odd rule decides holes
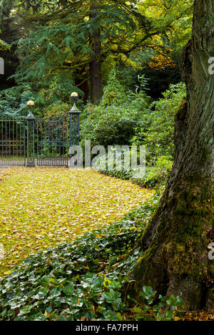
[[[41,249],[120,220],[153,195],[90,170],[11,168],[0,181],[0,276]]]

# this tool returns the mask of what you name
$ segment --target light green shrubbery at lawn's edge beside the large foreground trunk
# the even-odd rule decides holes
[[[143,109],[136,135],[132,138],[133,145],[146,146],[146,174],[136,177],[133,170],[118,171],[116,168],[103,168],[102,159],[99,170],[106,175],[132,180],[138,185],[163,188],[173,164],[173,134],[174,118],[183,98],[185,86],[183,83],[171,85],[163,93],[163,98],[151,103]],[[126,144],[126,142],[122,143]],[[123,157],[123,156],[122,156]],[[124,161],[122,160],[122,166]]]

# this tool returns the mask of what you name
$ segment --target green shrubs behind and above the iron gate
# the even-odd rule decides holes
[[[64,115],[71,108],[72,102],[69,100],[71,91],[78,91],[80,95],[83,93],[74,88],[73,85],[66,86],[58,83],[56,78],[51,82],[50,86],[43,88],[41,91],[34,91],[29,86],[14,86],[0,92],[0,118],[24,118],[29,111],[26,107],[28,100],[34,100],[34,115],[36,118],[55,119]],[[72,83],[71,83],[72,84]],[[82,100],[78,101],[78,106],[83,109]]]

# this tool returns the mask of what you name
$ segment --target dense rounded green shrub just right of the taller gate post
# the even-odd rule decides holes
[[[81,115],[81,140],[91,140],[92,145],[129,145],[136,129],[141,128],[143,110],[148,107],[148,97],[143,91],[126,92],[113,69],[104,88],[100,105],[88,104]]]

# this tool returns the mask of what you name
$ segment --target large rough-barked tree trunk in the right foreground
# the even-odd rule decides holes
[[[141,238],[142,261],[127,289],[143,285],[183,297],[186,309],[214,310],[213,110],[214,0],[195,0],[193,38],[181,57],[187,101],[175,116],[175,158],[168,185]]]

